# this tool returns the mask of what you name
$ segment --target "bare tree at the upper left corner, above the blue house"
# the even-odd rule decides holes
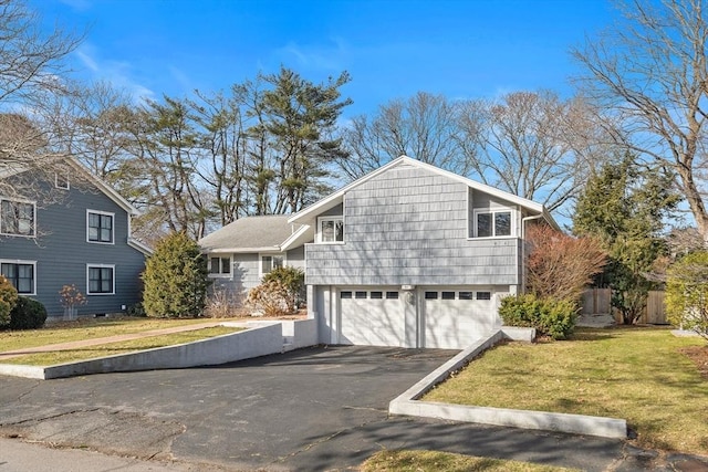
[[[80,41],[60,29],[44,34],[24,2],[0,0],[0,193],[31,196],[41,204],[52,196],[40,182],[53,187],[55,172],[67,171],[65,155],[50,147],[41,112],[49,96],[64,91],[63,60]],[[30,172],[19,174],[24,170]]]

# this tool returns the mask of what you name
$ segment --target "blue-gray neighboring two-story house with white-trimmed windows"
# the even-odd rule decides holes
[[[42,183],[59,195],[53,203],[0,195],[0,273],[42,302],[50,317],[63,316],[59,292],[72,284],[87,298],[79,315],[125,312],[142,298],[149,253],[131,237],[138,211],[79,162],[66,162],[70,176]]]

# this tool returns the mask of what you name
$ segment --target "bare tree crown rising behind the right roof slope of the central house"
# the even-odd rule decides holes
[[[551,92],[466,102],[459,147],[485,183],[555,211],[582,188],[589,164],[604,158],[577,133],[592,127],[582,105]]]

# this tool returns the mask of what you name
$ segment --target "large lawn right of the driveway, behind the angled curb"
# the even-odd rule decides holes
[[[644,448],[708,454],[708,380],[666,328],[577,329],[486,352],[423,400],[624,418]]]

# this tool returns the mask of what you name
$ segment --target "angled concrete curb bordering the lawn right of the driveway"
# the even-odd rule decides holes
[[[512,428],[539,429],[575,434],[597,436],[602,438],[625,439],[627,437],[627,423],[623,419],[553,413],[545,411],[513,410],[506,408],[448,405],[418,400],[418,398],[423,397],[437,384],[447,379],[451,373],[462,368],[486,349],[489,349],[500,340],[507,338],[523,338],[525,340],[529,338],[529,331],[524,334],[520,328],[510,329],[504,326],[501,329],[491,333],[487,338],[476,342],[395,398],[388,405],[388,412],[391,415],[406,415]]]

